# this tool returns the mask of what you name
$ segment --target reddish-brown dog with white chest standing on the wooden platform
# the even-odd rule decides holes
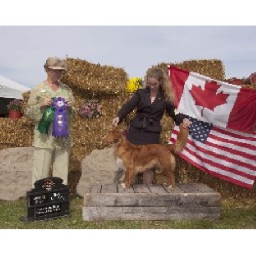
[[[110,129],[103,141],[114,147],[114,156],[118,166],[114,182],[118,182],[125,172],[125,179],[121,185],[123,188],[129,188],[136,174],[158,168],[168,176],[168,186],[171,188],[175,185],[174,169],[176,164],[172,152],[179,154],[185,147],[187,139],[188,128],[184,128],[182,125],[180,125],[176,142],[164,145],[135,145],[127,141],[117,128]]]

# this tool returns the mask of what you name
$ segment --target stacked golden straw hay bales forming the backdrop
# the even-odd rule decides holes
[[[86,155],[94,149],[104,148],[102,137],[112,124],[112,119],[131,94],[125,92],[128,80],[127,74],[121,68],[92,64],[80,59],[67,58],[68,72],[63,75],[61,81],[68,84],[75,96],[77,109],[86,100],[97,99],[102,104],[102,116],[98,118],[82,118],[76,114],[72,122],[72,134],[74,146],[71,151],[69,185],[71,191],[76,191],[76,185],[81,175],[81,162]],[[159,63],[159,67],[167,69],[168,65],[201,73],[213,79],[225,80],[224,65],[220,60],[189,60],[181,63]],[[24,105],[28,101],[30,92],[24,93]],[[122,129],[126,129],[132,115],[123,123]],[[167,143],[170,137],[173,123],[169,117],[162,120],[163,131],[161,142]],[[0,118],[0,150],[8,147],[29,147],[32,143],[33,125],[26,117],[18,121],[9,118]],[[255,186],[252,191],[217,179],[196,167],[191,166],[183,159],[176,156],[176,181],[196,181],[209,185],[222,196],[254,197]],[[164,183],[166,178],[162,174],[156,174],[156,182]]]

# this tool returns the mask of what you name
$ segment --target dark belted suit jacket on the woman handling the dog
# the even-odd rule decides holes
[[[154,102],[151,103],[149,88],[138,89],[133,97],[123,105],[117,114],[120,118],[119,122],[121,123],[135,108],[137,108],[136,115],[131,120],[130,126],[144,128],[147,131],[153,131],[155,133],[160,133],[161,131],[160,121],[165,111],[174,119],[176,125],[179,125],[186,118],[183,114],[175,115],[174,105],[167,102],[164,95],[160,92]]]

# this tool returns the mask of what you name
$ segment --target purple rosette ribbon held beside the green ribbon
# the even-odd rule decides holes
[[[67,121],[67,104],[64,98],[56,97],[53,100],[53,108],[55,109],[53,119],[52,136],[67,137],[68,136],[68,121]]]

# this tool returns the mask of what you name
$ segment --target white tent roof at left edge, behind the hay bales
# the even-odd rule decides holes
[[[22,93],[32,90],[30,87],[0,76],[0,98],[16,98],[22,100]]]

